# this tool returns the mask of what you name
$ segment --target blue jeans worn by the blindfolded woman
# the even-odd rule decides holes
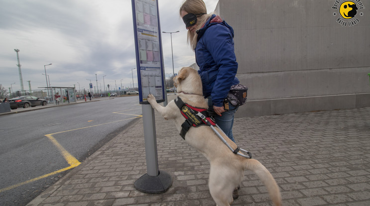
[[[213,103],[212,99],[208,97],[208,107],[211,111],[213,111]],[[215,115],[214,119],[216,120],[216,124],[222,129],[222,131],[231,139],[233,142],[233,124],[234,124],[234,115],[235,112],[238,110],[239,105],[233,106],[229,103],[229,110],[224,111],[221,113],[222,116]]]

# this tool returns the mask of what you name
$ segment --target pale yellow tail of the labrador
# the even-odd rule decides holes
[[[277,183],[271,173],[258,160],[246,159],[245,169],[254,172],[267,187],[275,206],[281,206],[281,195]]]

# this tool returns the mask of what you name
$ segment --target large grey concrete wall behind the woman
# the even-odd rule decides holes
[[[334,3],[219,0],[215,12],[235,31],[237,77],[249,88],[237,116],[370,106],[370,11],[342,26]]]

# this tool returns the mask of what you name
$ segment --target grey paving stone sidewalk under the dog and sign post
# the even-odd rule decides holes
[[[28,206],[215,206],[208,161],[156,113],[159,169],[173,184],[146,194],[142,118],[96,151]],[[370,107],[236,118],[237,144],[276,178],[283,206],[370,205]],[[215,148],[217,149],[217,148]],[[246,171],[232,206],[270,206],[266,188]]]

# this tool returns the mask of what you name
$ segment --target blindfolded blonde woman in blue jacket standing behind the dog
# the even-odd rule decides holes
[[[225,101],[230,88],[239,84],[238,63],[234,53],[234,30],[222,18],[207,14],[203,0],[185,0],[180,16],[187,29],[187,43],[195,52],[198,73],[202,80],[203,96],[213,110],[222,131],[233,141],[234,114],[239,105]],[[237,188],[233,198],[239,197]]]

